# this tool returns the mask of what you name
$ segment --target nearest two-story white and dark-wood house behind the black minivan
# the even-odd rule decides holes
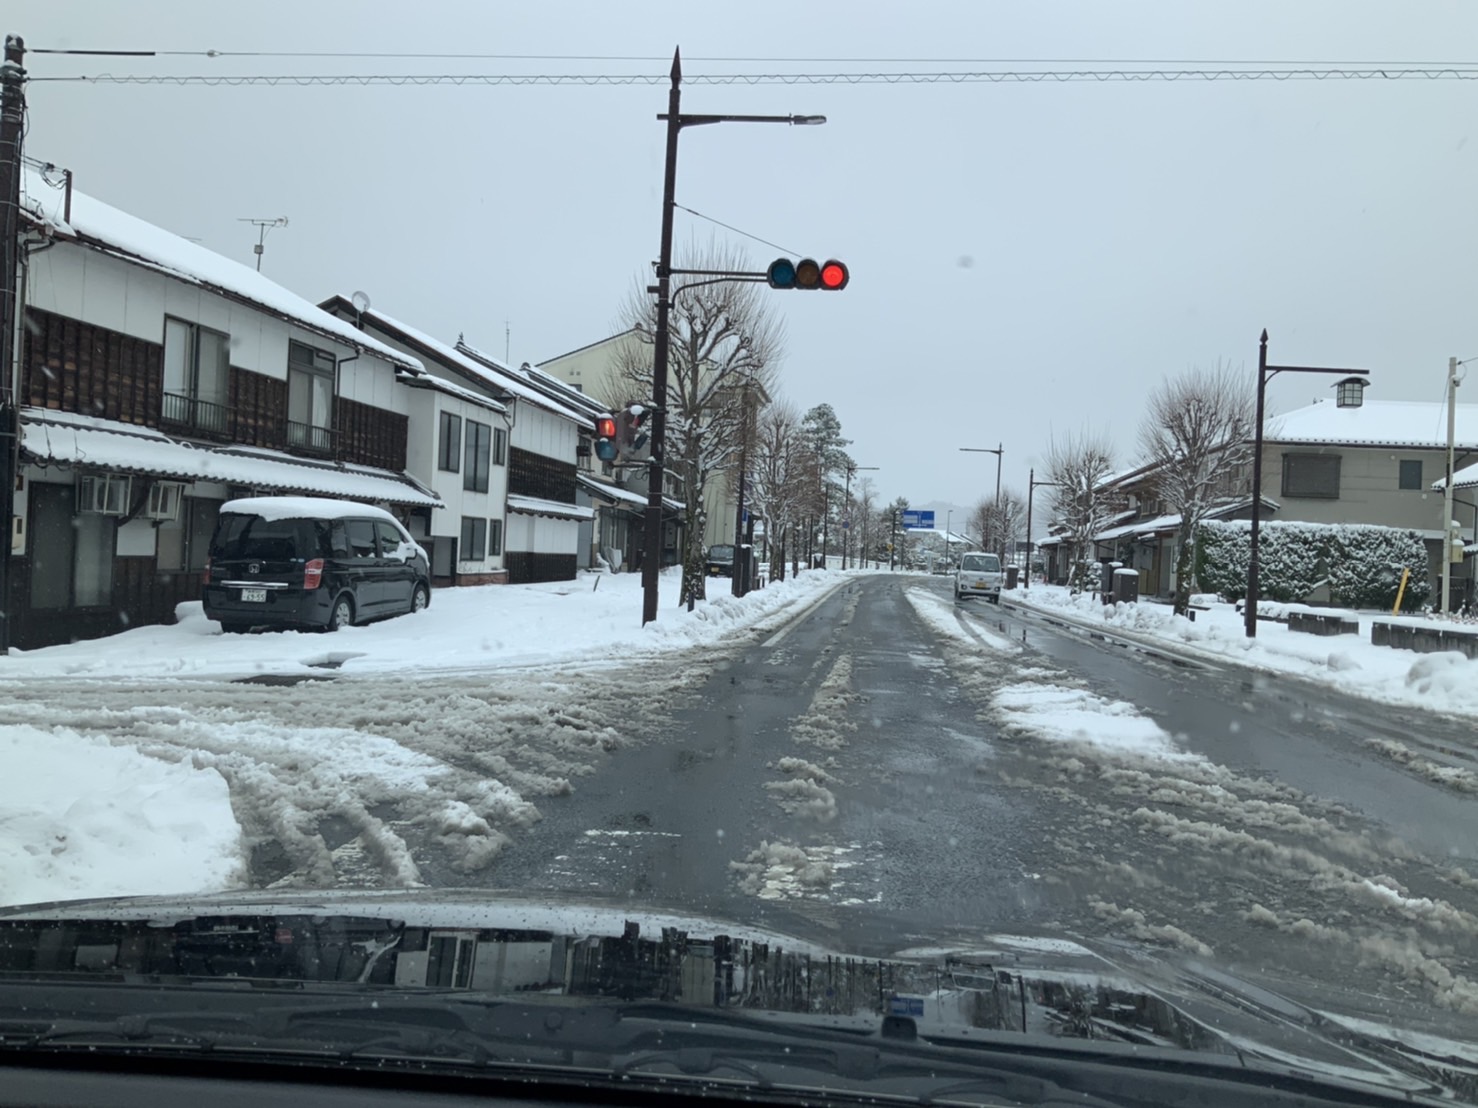
[[[171,622],[220,504],[439,507],[405,474],[420,363],[254,269],[28,171],[12,643]]]

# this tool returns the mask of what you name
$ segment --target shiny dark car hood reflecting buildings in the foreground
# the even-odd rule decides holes
[[[440,953],[435,953],[440,951]],[[652,1000],[903,1021],[930,1043],[1052,1042],[1137,1059],[1194,1052],[1283,1074],[1478,1101],[1478,1043],[1414,1008],[1295,999],[1246,974],[1135,944],[971,937],[887,957],[628,904],[488,889],[269,891],[0,909],[0,1008],[27,981],[220,979],[424,994]],[[860,1021],[860,1024],[859,1024]],[[1024,1037],[1023,1037],[1024,1036]]]

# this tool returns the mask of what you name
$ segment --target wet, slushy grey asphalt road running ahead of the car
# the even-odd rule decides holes
[[[930,606],[950,634],[921,618]],[[1004,722],[996,697],[1023,684],[1128,702],[1205,761],[1064,755]],[[1443,974],[1457,982],[1443,1003],[1459,1003],[1478,969],[1478,796],[1366,745],[1413,733],[1459,762],[1474,750],[1448,724],[879,575],[721,662],[668,725],[542,804],[491,880],[863,953],[1011,931],[1314,981],[1369,959],[1372,1003],[1426,1003]],[[788,758],[823,773],[816,807],[777,802],[798,776]]]

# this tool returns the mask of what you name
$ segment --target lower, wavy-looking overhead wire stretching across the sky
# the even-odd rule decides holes
[[[30,75],[50,84],[173,86],[656,86],[667,74],[92,74]],[[684,84],[1066,84],[1110,81],[1401,81],[1478,80],[1478,66],[1264,69],[973,69],[931,72],[693,74]]]

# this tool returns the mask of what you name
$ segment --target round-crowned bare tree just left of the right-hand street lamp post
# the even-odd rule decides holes
[[[1243,492],[1252,461],[1253,394],[1227,365],[1160,381],[1140,425],[1140,449],[1166,511],[1181,514],[1175,613],[1185,615],[1196,564],[1196,529],[1206,513]]]

